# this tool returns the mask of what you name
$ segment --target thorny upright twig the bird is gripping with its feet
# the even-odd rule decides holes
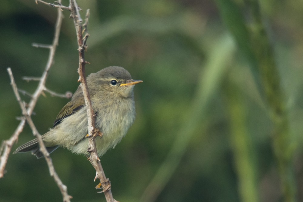
[[[92,108],[92,102],[90,100],[90,96],[88,93],[88,87],[86,83],[86,77],[85,77],[85,64],[87,63],[84,59],[84,51],[86,49],[86,40],[88,38],[87,33],[87,25],[88,25],[88,17],[89,17],[89,10],[86,12],[86,20],[84,23],[85,30],[83,30],[83,27],[81,25],[82,19],[79,14],[79,8],[77,5],[77,2],[75,0],[70,0],[70,7],[72,11],[72,18],[74,20],[75,28],[76,28],[76,34],[77,34],[77,40],[78,40],[78,51],[79,51],[79,79],[78,81],[81,82],[81,87],[84,95],[85,100],[85,106],[87,110],[87,117],[88,117],[88,134],[89,134],[89,141],[88,141],[88,151],[90,151],[90,157],[89,160],[92,163],[93,167],[96,170],[96,177],[95,179],[99,179],[100,183],[97,185],[96,188],[103,188],[106,201],[115,202],[116,200],[112,196],[112,191],[110,190],[110,181],[105,177],[102,165],[100,163],[100,159],[98,157],[97,148],[96,148],[96,142],[95,142],[95,133],[98,131],[95,128],[95,116],[94,116],[94,110]],[[85,37],[82,36],[82,31],[86,32]]]

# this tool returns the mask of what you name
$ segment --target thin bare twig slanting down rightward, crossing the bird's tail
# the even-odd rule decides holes
[[[60,180],[58,174],[56,173],[54,165],[52,164],[52,159],[49,156],[49,153],[46,150],[46,147],[45,147],[45,145],[43,143],[42,136],[39,134],[37,128],[35,127],[35,124],[32,121],[32,118],[28,115],[28,113],[26,111],[26,108],[25,108],[25,105],[24,105],[24,103],[22,102],[22,100],[20,98],[20,95],[19,95],[19,92],[18,92],[18,88],[17,88],[17,85],[15,83],[15,80],[14,80],[11,68],[7,68],[7,71],[8,71],[8,74],[10,76],[10,79],[11,79],[11,85],[12,85],[12,88],[14,90],[15,96],[17,98],[17,101],[19,102],[20,108],[22,109],[22,114],[23,114],[23,116],[25,116],[27,123],[29,124],[29,126],[32,129],[33,134],[38,139],[38,144],[39,144],[39,147],[40,147],[40,151],[42,152],[42,154],[45,157],[45,160],[46,160],[48,168],[49,168],[49,173],[50,173],[50,175],[52,177],[54,177],[54,180],[57,183],[57,185],[58,185],[58,187],[59,187],[59,189],[61,191],[61,194],[63,196],[63,201],[70,201],[70,199],[72,197],[68,195],[68,193],[67,193],[67,187],[62,183],[62,181]]]

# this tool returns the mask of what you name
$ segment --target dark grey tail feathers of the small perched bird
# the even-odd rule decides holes
[[[56,146],[52,146],[52,147],[46,147],[46,150],[49,153],[51,153],[57,148],[58,148],[58,146],[56,145]],[[16,151],[14,151],[13,154],[24,153],[24,152],[28,152],[28,151],[31,151],[32,154],[35,155],[37,158],[44,157],[44,155],[40,151],[40,147],[39,147],[37,138],[32,140],[32,141],[29,141],[28,143],[25,143],[25,144],[21,145],[20,147],[18,147],[16,149]]]

